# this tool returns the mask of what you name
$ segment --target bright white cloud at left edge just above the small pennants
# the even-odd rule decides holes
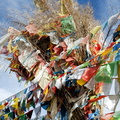
[[[0,101],[8,98],[11,96],[13,93],[9,92],[8,90],[5,90],[3,88],[0,88]]]

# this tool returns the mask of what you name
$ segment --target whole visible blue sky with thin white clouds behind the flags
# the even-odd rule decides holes
[[[106,21],[111,15],[120,11],[120,0],[79,0],[79,3],[90,3],[94,9],[95,18],[101,22]],[[0,26],[3,28],[11,25],[9,23],[12,10],[20,10],[27,12],[23,8],[34,7],[32,0],[0,0]],[[8,62],[0,57],[0,101],[9,97],[12,94],[24,89],[24,84],[17,82],[14,73],[9,74],[9,70],[5,72],[8,67]]]

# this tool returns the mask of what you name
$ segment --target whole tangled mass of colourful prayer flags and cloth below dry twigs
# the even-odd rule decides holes
[[[44,119],[119,120],[119,18],[120,13],[111,16],[79,39],[72,15],[60,17],[61,36],[58,28],[41,35],[34,23],[25,31],[10,27],[1,37],[0,54],[8,56],[10,70],[19,82],[37,84],[37,89],[2,101],[0,119],[31,119],[32,107],[37,112],[45,109]],[[113,82],[115,94],[110,93]],[[104,107],[111,113],[105,115]]]

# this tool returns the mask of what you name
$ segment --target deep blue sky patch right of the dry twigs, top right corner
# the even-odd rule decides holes
[[[80,4],[90,3],[95,18],[104,22],[111,15],[120,11],[120,0],[78,0]]]

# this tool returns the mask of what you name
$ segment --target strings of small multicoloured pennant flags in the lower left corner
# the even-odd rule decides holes
[[[28,91],[30,90],[30,91]],[[16,95],[11,96],[11,99],[9,101],[6,99],[5,101],[8,101],[4,103],[4,101],[1,102],[0,105],[0,118],[1,119],[31,119],[33,109],[36,108],[36,99],[39,99],[39,97],[35,97],[33,99],[33,91],[40,91],[40,88],[38,87],[38,84],[32,85],[28,88],[26,88],[23,91],[20,91]],[[23,93],[23,94],[20,94]],[[23,97],[25,96],[25,97]],[[32,109],[31,109],[32,108]]]

